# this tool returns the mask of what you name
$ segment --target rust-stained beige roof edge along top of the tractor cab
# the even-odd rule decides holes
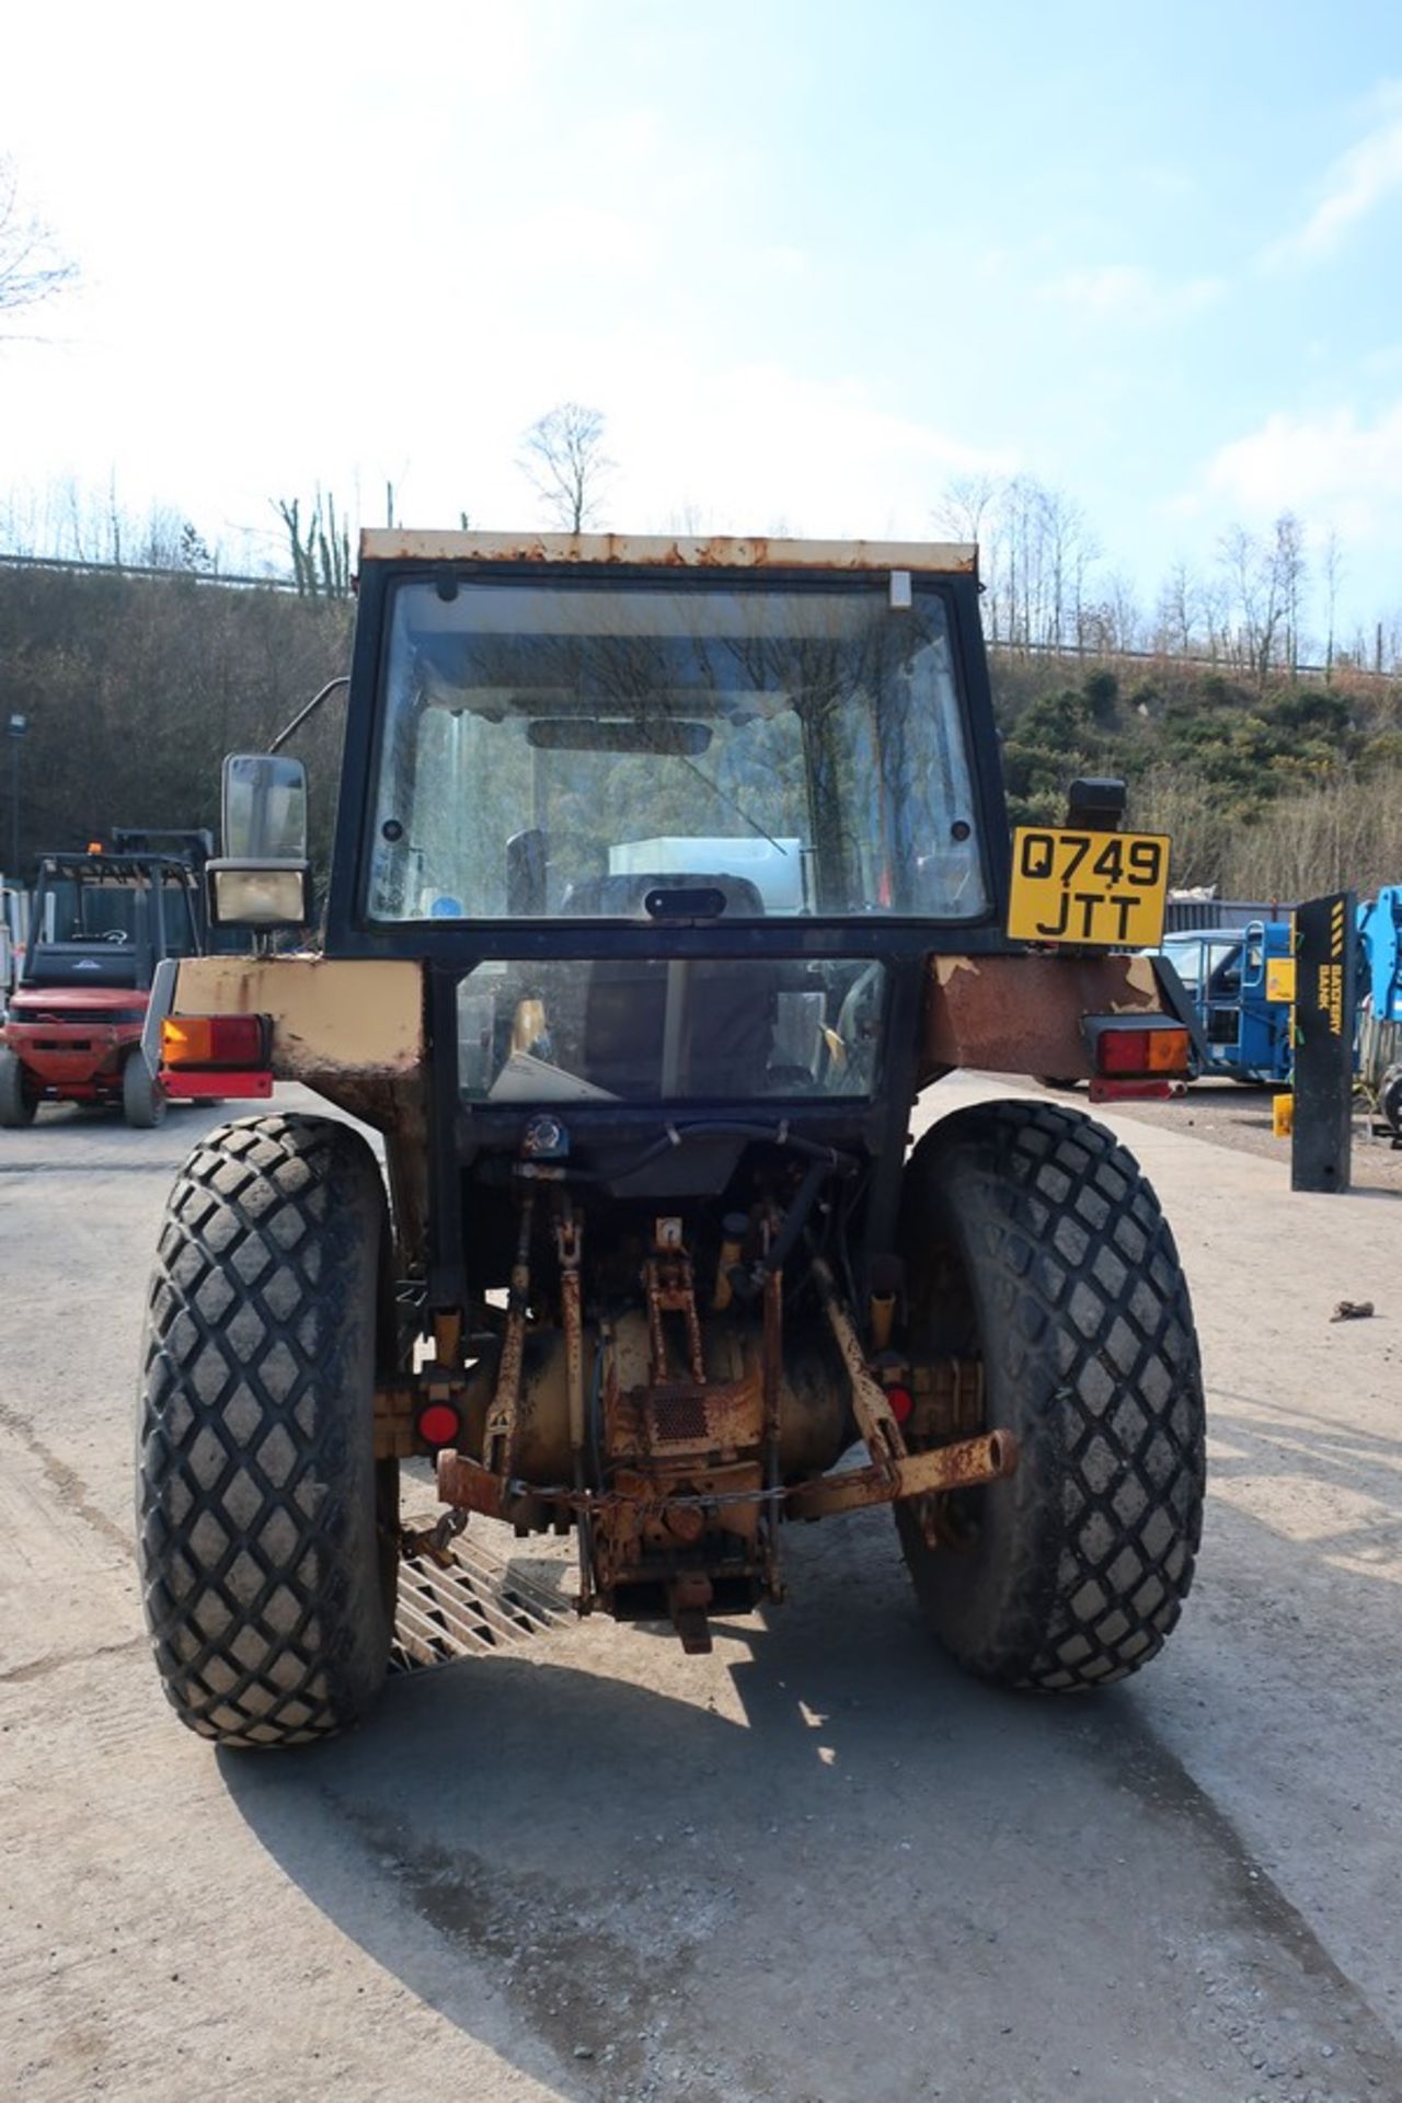
[[[410,532],[368,528],[362,562],[570,562],[656,564],[664,570],[916,570],[975,576],[971,540],[677,540],[647,534]]]

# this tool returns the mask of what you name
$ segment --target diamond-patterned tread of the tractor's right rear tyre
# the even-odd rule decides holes
[[[1091,1117],[977,1104],[937,1125],[912,1167],[940,1178],[952,1155],[973,1176],[963,1188],[996,1308],[984,1350],[1026,1403],[1003,1634],[963,1661],[1005,1685],[1108,1685],[1162,1649],[1200,1544],[1204,1403],[1188,1283],[1152,1184]],[[923,1588],[935,1558],[921,1569],[923,1541],[902,1531]]]

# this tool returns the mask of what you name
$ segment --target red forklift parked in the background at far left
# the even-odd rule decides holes
[[[160,848],[158,841],[172,845]],[[204,948],[208,833],[114,833],[86,854],[44,854],[29,944],[0,1026],[0,1125],[40,1102],[122,1108],[149,1129],[166,1089],[141,1052],[156,965]]]

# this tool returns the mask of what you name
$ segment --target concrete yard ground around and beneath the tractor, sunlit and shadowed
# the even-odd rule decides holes
[[[1398,1197],[1120,1125],[1213,1409],[1198,1586],[1125,1687],[961,1678],[877,1512],[795,1529],[792,1605],[713,1657],[561,1621],[229,1756],[164,1703],[130,1520],[147,1260],[212,1121],[0,1134],[0,2095],[1402,2097]]]

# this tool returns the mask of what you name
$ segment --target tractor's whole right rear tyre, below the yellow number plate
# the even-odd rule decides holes
[[[1188,1285],[1152,1186],[1080,1110],[992,1102],[906,1167],[919,1352],[982,1356],[1013,1476],[898,1506],[916,1596],[980,1678],[1066,1689],[1162,1649],[1202,1531],[1204,1407]]]

